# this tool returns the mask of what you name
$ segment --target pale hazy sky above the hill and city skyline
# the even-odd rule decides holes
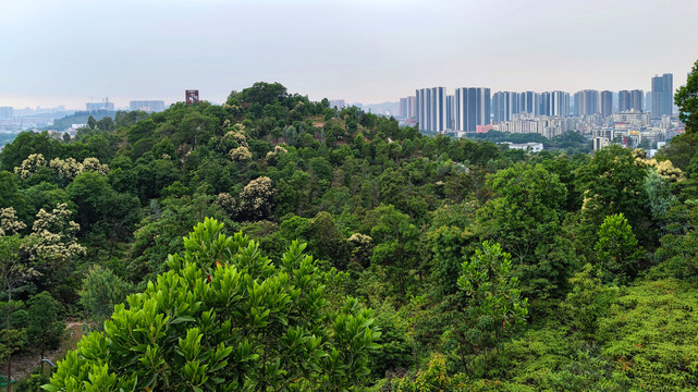
[[[381,102],[415,88],[650,89],[698,60],[698,0],[3,0],[0,106],[222,102],[254,82]]]

